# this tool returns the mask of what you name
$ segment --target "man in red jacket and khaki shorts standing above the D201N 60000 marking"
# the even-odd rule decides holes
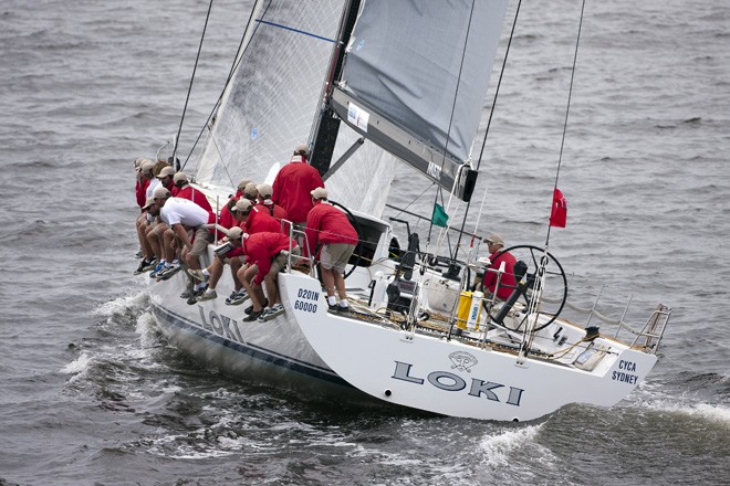
[[[347,220],[347,215],[327,202],[327,191],[317,188],[312,191],[314,208],[306,216],[306,240],[311,252],[319,249],[320,273],[327,292],[330,310],[348,310],[345,278],[343,273],[347,261],[357,245],[357,231]],[[340,302],[335,298],[335,289]]]

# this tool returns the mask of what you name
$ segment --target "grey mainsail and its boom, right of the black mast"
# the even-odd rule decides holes
[[[353,128],[468,200],[507,0],[367,0],[333,107]],[[384,19],[387,19],[384,21]]]

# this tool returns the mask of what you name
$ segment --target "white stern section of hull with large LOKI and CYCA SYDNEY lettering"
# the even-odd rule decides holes
[[[300,296],[321,292],[319,282],[307,276],[282,275],[280,285],[288,295],[288,313],[342,378],[380,400],[445,415],[524,421],[569,403],[613,405],[657,360],[599,338],[611,349],[592,371],[572,366],[575,355],[562,361],[528,357],[520,363],[515,352],[447,340],[440,334],[414,334],[385,320],[374,324],[330,314],[322,297],[310,311],[313,307],[302,305],[310,300]]]

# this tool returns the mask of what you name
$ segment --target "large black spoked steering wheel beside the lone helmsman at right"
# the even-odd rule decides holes
[[[510,252],[517,261],[522,261],[528,265],[525,273],[528,277],[536,279],[540,277],[540,272],[544,271],[545,279],[542,289],[542,302],[540,303],[540,314],[550,316],[550,319],[545,324],[535,327],[535,330],[548,327],[557,318],[567,300],[567,277],[565,276],[563,266],[550,252],[545,252],[544,249],[539,246],[515,245],[510,246],[503,252]],[[543,261],[544,265],[541,265]],[[528,288],[522,296],[526,306],[530,305],[530,300],[533,298],[533,286],[534,281],[529,281]]]

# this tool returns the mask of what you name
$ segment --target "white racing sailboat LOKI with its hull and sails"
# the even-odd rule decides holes
[[[430,237],[421,250],[409,225],[407,244],[395,244],[401,222],[383,218],[400,163],[449,200],[471,200],[507,11],[507,0],[258,1],[207,125],[196,187],[220,208],[239,179],[273,180],[307,140],[328,199],[358,232],[351,311],[328,310],[315,265],[282,272],[284,314],[254,323],[222,299],[187,305],[180,273],[149,286],[170,342],[242,379],[354,388],[459,418],[534,420],[632,392],[657,361],[670,308],[659,304],[638,326],[622,318],[609,334],[580,326],[562,316],[570,285],[546,244],[508,249],[520,271],[500,299],[472,283],[482,272],[500,282],[504,268],[476,252],[441,252]]]

